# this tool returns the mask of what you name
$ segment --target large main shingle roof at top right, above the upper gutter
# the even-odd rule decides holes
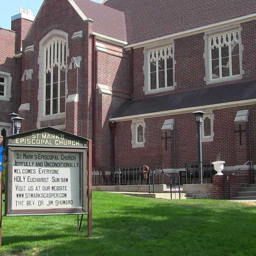
[[[124,12],[129,44],[256,12],[255,0],[108,0],[104,5]]]

